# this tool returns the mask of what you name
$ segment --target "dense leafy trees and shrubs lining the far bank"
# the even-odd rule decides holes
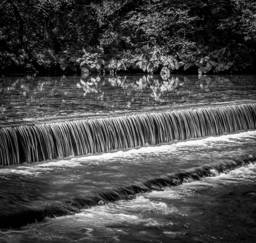
[[[253,73],[254,0],[2,0],[0,72]]]

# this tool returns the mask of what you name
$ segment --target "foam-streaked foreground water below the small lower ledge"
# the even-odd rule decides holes
[[[230,190],[228,184],[232,182],[232,189],[236,190],[236,185],[250,183],[244,180],[247,177],[252,180],[256,178],[256,164],[250,163],[216,177],[165,187],[160,192],[137,194],[135,199],[94,206],[72,216],[47,219],[42,223],[23,226],[20,230],[10,230],[7,234],[0,231],[0,239],[1,234],[4,238],[9,237],[8,243],[16,242],[12,239],[17,237],[28,242],[28,236],[32,236],[34,242],[104,242],[106,235],[106,242],[128,242],[127,236],[130,242],[131,239],[134,242],[148,242],[152,237],[159,237],[154,238],[157,242],[172,242],[172,237],[184,237],[186,240],[192,236],[195,240],[192,242],[214,242],[222,237],[227,239],[230,235],[227,236],[226,231],[220,231],[228,222],[227,216],[223,216],[226,209],[221,209],[216,200],[229,203],[226,199]],[[228,186],[227,192],[223,193],[225,185]],[[250,192],[250,189],[240,188],[240,194],[246,190],[248,193],[245,197],[253,199],[256,194]],[[243,194],[239,198],[244,198]],[[238,211],[237,205],[233,206],[235,200],[229,203],[228,208],[231,208],[232,214],[237,215],[239,212],[234,213]],[[218,214],[219,210],[222,210],[221,214]],[[226,221],[221,223],[223,220]],[[203,241],[197,241],[198,237]],[[212,241],[207,241],[209,237]],[[179,242],[186,241],[181,238]]]

